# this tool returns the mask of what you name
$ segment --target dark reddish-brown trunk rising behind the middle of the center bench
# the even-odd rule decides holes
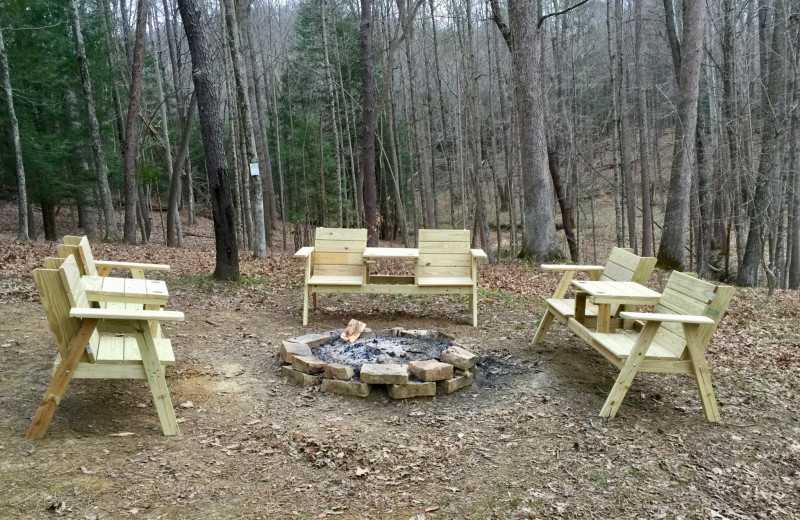
[[[367,244],[378,245],[377,185],[375,178],[375,67],[372,59],[372,0],[361,0],[362,117],[361,173],[364,178],[364,224]],[[358,189],[358,188],[356,188]]]

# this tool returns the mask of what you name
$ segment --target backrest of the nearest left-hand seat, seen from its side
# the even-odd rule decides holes
[[[60,265],[59,265],[60,264]],[[61,357],[67,355],[69,342],[80,326],[80,320],[71,318],[69,311],[73,307],[89,307],[86,292],[80,278],[80,271],[75,257],[65,259],[48,258],[45,260],[46,269],[35,269],[33,280],[39,291],[47,322],[56,339]],[[81,356],[81,361],[94,362],[94,352],[90,345],[98,345],[99,335],[95,330],[89,339],[86,351]]]

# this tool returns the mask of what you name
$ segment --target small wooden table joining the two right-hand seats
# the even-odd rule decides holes
[[[655,305],[661,299],[658,293],[636,282],[583,281],[573,280],[575,290],[575,319],[584,323],[586,318],[586,299],[597,305],[597,332],[611,332],[611,306]]]

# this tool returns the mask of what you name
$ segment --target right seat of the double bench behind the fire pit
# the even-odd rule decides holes
[[[468,229],[420,229],[417,285],[426,294],[468,294],[472,326],[478,326],[478,260]]]

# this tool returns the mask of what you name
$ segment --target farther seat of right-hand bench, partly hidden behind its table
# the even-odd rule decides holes
[[[542,265],[542,269],[548,271],[564,271],[561,280],[558,282],[553,296],[545,300],[547,302],[547,310],[545,311],[542,320],[539,322],[539,328],[536,330],[536,336],[533,338],[533,343],[539,343],[544,340],[547,331],[553,324],[553,319],[561,323],[567,323],[567,320],[575,315],[575,300],[565,298],[567,290],[569,290],[572,278],[575,273],[579,271],[588,272],[589,278],[592,280],[600,281],[617,281],[617,282],[636,282],[642,285],[647,284],[653,269],[656,266],[656,259],[653,257],[637,256],[629,249],[615,247],[611,250],[608,256],[608,261],[605,266],[600,265]],[[612,306],[611,315],[617,316],[620,309],[617,306]],[[587,304],[586,317],[589,320],[594,320],[597,317],[597,307]]]

